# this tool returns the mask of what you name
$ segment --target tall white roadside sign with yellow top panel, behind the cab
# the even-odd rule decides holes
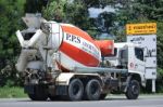
[[[127,42],[140,44],[147,51],[146,79],[152,80],[152,92],[155,92],[156,79],[156,24],[127,24]]]

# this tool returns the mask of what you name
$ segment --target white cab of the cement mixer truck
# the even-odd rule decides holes
[[[122,42],[114,43],[114,54],[104,57],[109,67],[126,68],[128,73],[136,77],[142,86],[146,86],[146,63],[143,48],[138,44]]]

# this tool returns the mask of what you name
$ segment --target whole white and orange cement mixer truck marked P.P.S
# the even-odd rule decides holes
[[[27,29],[16,31],[22,46],[16,69],[32,101],[98,101],[111,92],[138,98],[146,85],[140,45],[93,40],[74,25],[39,15],[26,14],[23,21]]]

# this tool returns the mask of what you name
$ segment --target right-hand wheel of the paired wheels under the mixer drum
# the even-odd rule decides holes
[[[88,81],[86,85],[86,95],[89,101],[97,101],[101,95],[101,85],[97,79]]]

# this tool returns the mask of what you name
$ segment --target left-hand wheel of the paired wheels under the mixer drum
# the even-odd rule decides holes
[[[84,94],[84,84],[79,79],[73,79],[68,85],[68,98],[80,101]]]

